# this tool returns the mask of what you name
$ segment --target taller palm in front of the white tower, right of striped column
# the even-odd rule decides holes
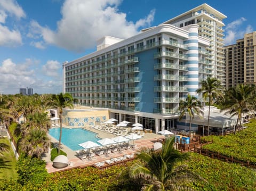
[[[197,93],[202,93],[203,98],[209,100],[209,111],[207,121],[207,136],[209,136],[209,121],[210,121],[210,109],[213,103],[213,99],[221,96],[220,81],[216,78],[206,78],[202,81],[202,87],[196,90]]]

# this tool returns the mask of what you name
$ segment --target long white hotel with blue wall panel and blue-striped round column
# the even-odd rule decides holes
[[[118,121],[154,132],[177,127],[180,99],[198,96],[199,81],[212,71],[211,41],[198,27],[160,24],[127,39],[105,36],[96,52],[63,63],[63,91],[80,105],[108,108]]]

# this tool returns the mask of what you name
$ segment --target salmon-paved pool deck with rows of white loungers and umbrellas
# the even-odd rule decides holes
[[[85,128],[87,130],[90,130],[92,132],[97,133],[97,137],[99,138],[114,138],[116,135],[111,135],[108,134],[107,132],[103,132],[98,129],[94,128]],[[54,144],[58,143],[58,140],[51,137],[49,135],[51,142]],[[81,157],[77,151],[71,150],[69,147],[66,145],[61,145],[61,150],[67,153],[69,165],[65,168],[58,169],[53,167],[53,162],[50,160],[50,151],[49,153],[44,154],[43,160],[46,161],[46,169],[47,172],[57,172],[57,171],[63,171],[63,170],[68,170],[72,168],[85,168],[89,166],[94,166],[96,168],[98,167],[107,167],[109,165],[113,164],[118,164],[122,163],[123,161],[128,161],[133,159],[135,157],[135,153],[139,152],[142,147],[147,147],[147,148],[153,148],[154,143],[158,142],[159,140],[162,140],[165,138],[162,135],[154,134],[154,133],[149,133],[147,132],[145,136],[143,136],[140,139],[137,140],[131,140],[130,144],[134,145],[134,147],[126,148],[123,149],[122,151],[117,151],[117,152],[110,152],[102,155],[97,155],[95,154],[93,157]]]

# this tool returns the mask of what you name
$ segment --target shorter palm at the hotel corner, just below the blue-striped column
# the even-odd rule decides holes
[[[198,99],[195,96],[190,96],[188,94],[188,97],[186,100],[180,100],[180,106],[179,106],[180,117],[179,120],[183,118],[183,116],[188,113],[189,114],[189,137],[190,137],[190,131],[191,131],[191,118],[194,118],[195,114],[199,115],[199,117],[202,116],[203,111],[201,110],[201,102],[198,101]]]

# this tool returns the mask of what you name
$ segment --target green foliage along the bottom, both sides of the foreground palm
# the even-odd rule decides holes
[[[111,167],[105,171],[92,167],[72,169],[69,171],[51,173],[45,177],[43,168],[25,168],[23,177],[26,184],[23,186],[17,181],[2,182],[0,190],[140,190],[140,187],[121,174],[129,170],[138,160],[127,163],[125,166]],[[32,163],[29,162],[29,165]],[[195,190],[256,190],[256,172],[253,169],[241,167],[234,163],[226,163],[196,153],[191,153],[187,162],[188,168],[197,173],[206,181],[191,183]],[[43,165],[42,165],[43,166]],[[34,171],[38,171],[35,175]],[[28,177],[25,177],[28,176]],[[30,177],[30,178],[29,178]],[[39,177],[41,181],[35,180]],[[29,178],[29,182],[28,182]],[[44,179],[45,178],[45,179]],[[44,180],[44,181],[42,181]]]

